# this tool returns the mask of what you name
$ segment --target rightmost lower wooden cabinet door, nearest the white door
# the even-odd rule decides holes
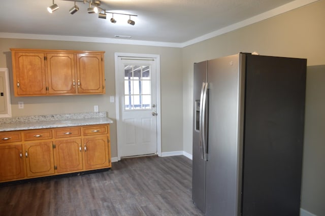
[[[107,136],[83,138],[84,169],[107,168],[110,165]]]

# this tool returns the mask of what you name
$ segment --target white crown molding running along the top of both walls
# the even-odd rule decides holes
[[[224,28],[218,29],[211,33],[202,35],[201,37],[189,40],[184,43],[168,43],[168,42],[155,42],[155,41],[137,41],[137,40],[127,40],[127,39],[114,39],[114,38],[93,38],[93,37],[79,37],[79,36],[68,36],[68,35],[50,35],[50,34],[22,34],[22,33],[8,33],[0,32],[0,38],[10,38],[10,39],[34,39],[34,40],[53,40],[53,41],[74,41],[74,42],[91,42],[91,43],[108,43],[108,44],[128,44],[128,45],[145,45],[145,46],[155,46],[155,47],[175,47],[183,48],[192,44],[199,43],[211,38],[214,38],[220,34],[224,34],[238,28],[245,27],[247,25],[277,16],[279,14],[309,5],[311,3],[317,2],[319,0],[296,0],[288,4],[282,5],[273,10],[267,11],[265,13],[256,15],[254,17],[248,18],[241,22],[226,26]]]

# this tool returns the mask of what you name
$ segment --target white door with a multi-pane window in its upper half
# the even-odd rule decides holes
[[[115,60],[118,159],[156,154],[160,130],[157,58],[133,54],[117,55]]]

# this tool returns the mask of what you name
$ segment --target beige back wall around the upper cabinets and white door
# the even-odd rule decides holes
[[[111,125],[112,157],[117,157],[116,110],[110,96],[115,95],[114,53],[145,53],[160,55],[161,85],[161,148],[162,152],[183,150],[182,137],[182,69],[181,49],[152,46],[82,43],[45,40],[0,39],[0,67],[8,67],[12,73],[10,48],[102,50],[105,51],[105,95],[14,97],[11,87],[12,115],[30,116],[93,112],[93,105],[108,112],[113,119]],[[12,76],[10,84],[12,85]],[[24,109],[18,109],[18,101],[24,102]],[[172,124],[170,124],[172,122]]]

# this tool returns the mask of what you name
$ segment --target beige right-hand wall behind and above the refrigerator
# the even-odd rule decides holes
[[[194,62],[256,51],[261,55],[307,58],[308,65],[325,64],[324,26],[325,1],[321,0],[183,48],[184,151],[192,153],[191,98]],[[306,101],[310,104],[306,104],[302,208],[318,216],[325,215],[325,89],[320,87],[325,83],[324,74],[324,69],[318,71],[318,74],[312,74],[308,70],[306,87]],[[314,81],[317,87],[314,87]],[[318,108],[311,110],[313,106]],[[314,130],[317,128],[315,125],[322,129]]]

